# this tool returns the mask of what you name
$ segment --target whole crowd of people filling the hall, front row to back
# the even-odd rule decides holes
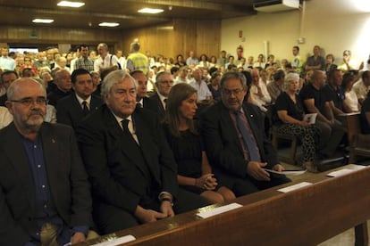
[[[271,129],[300,139],[314,173],[348,144],[341,114],[370,133],[370,72],[349,51],[335,65],[318,46],[305,62],[298,46],[291,62],[139,49],[2,48],[1,245],[83,242],[288,183],[267,171],[284,170]]]

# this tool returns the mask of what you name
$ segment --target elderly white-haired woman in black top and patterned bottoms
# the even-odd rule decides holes
[[[304,108],[297,91],[299,74],[289,73],[285,76],[284,92],[275,102],[274,125],[276,130],[286,135],[296,135],[302,143],[303,166],[309,172],[317,172],[315,166],[316,146],[320,137],[319,128],[304,120]]]

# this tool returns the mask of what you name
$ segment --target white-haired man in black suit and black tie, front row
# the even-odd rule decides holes
[[[115,70],[102,85],[105,105],[77,129],[100,232],[207,205],[200,196],[179,190],[177,165],[156,114],[136,107],[137,81]]]

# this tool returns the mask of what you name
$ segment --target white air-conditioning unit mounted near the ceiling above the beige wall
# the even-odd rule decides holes
[[[257,12],[282,12],[299,9],[299,0],[267,0],[253,4]]]

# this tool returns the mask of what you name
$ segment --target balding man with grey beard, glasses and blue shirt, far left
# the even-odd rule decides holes
[[[83,242],[92,225],[88,176],[71,127],[44,122],[46,90],[9,86],[13,123],[0,130],[0,245]]]

